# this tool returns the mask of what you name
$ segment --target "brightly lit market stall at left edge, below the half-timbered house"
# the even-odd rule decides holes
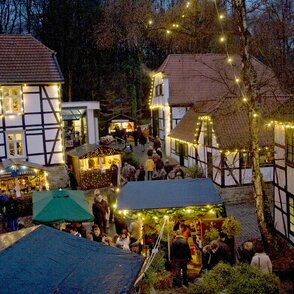
[[[0,163],[0,189],[2,193],[16,195],[46,190],[46,167],[19,159],[7,159]]]

